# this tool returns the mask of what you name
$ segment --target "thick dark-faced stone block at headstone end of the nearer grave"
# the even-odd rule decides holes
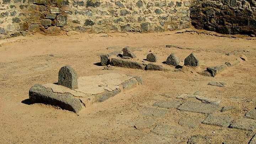
[[[78,113],[82,109],[82,103],[70,93],[54,93],[51,88],[45,88],[36,84],[29,90],[29,98],[32,103],[43,103],[58,106],[64,110]]]

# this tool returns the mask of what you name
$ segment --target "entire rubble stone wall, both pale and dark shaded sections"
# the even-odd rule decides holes
[[[43,32],[256,34],[255,0],[0,0],[0,39]]]

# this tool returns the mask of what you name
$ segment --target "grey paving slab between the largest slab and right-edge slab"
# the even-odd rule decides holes
[[[229,116],[210,114],[202,123],[213,126],[228,127],[231,121],[232,119]]]

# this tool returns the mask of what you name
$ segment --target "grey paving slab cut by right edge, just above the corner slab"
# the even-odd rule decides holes
[[[241,129],[245,131],[255,131],[256,129],[256,120],[248,118],[239,118],[231,122],[230,128]]]

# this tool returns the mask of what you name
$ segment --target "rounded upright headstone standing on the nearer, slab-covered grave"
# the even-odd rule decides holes
[[[71,66],[63,66],[60,68],[58,84],[73,90],[78,88],[78,77]]]

